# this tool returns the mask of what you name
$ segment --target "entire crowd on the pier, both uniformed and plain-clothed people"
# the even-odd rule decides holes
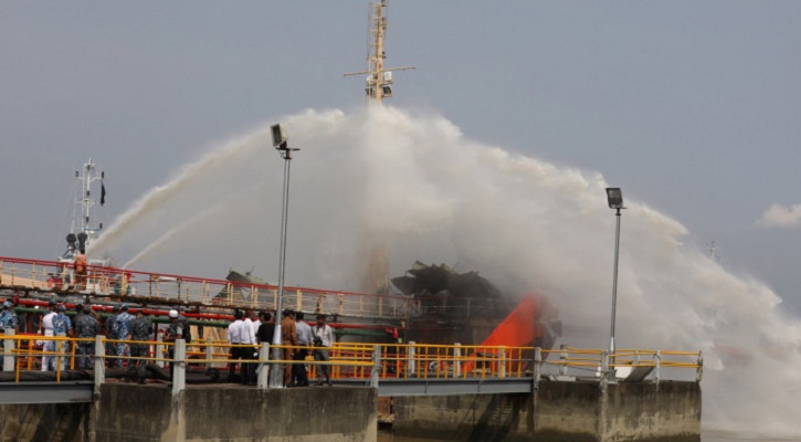
[[[4,329],[18,329],[18,318],[14,314],[14,305],[7,299],[1,305],[0,333]],[[145,360],[149,356],[150,344],[154,336],[154,324],[145,315],[143,308],[137,308],[134,314],[129,313],[127,304],[113,307],[110,316],[104,319],[97,313],[83,304],[75,305],[75,315],[71,319],[63,303],[50,301],[40,320],[40,333],[43,338],[38,341],[42,345],[44,356],[42,357],[42,371],[56,369],[64,370],[67,367],[66,355],[70,354],[68,341],[51,340],[46,337],[64,336],[75,337],[82,340],[75,344],[74,368],[78,370],[91,370],[94,368],[95,340],[98,335],[106,336],[109,340],[128,340],[134,343],[106,343],[106,366],[108,368],[135,368],[136,380],[144,383],[146,379]],[[164,341],[175,343],[176,339],[191,341],[191,333],[187,318],[177,309],[168,314],[170,324],[165,330]],[[305,364],[309,351],[314,360],[328,361],[329,349],[334,345],[334,332],[326,324],[326,315],[317,315],[316,323],[307,323],[303,312],[285,309],[283,319],[278,325],[273,320],[268,312],[256,314],[253,309],[235,311],[234,320],[228,327],[228,341],[231,347],[231,361],[229,364],[229,382],[239,381],[242,385],[256,383],[256,367],[259,359],[259,346],[262,343],[272,344],[275,327],[281,327],[281,339],[283,344],[283,359],[293,361],[285,364],[283,368],[283,383],[285,387],[308,387],[308,369]],[[57,343],[61,343],[59,346]],[[57,351],[56,351],[57,348]],[[172,358],[173,347],[169,347],[169,357]],[[59,355],[61,354],[61,355]],[[2,358],[0,358],[2,364]],[[239,368],[239,377],[236,369]],[[170,377],[172,377],[172,365],[170,365]],[[133,372],[133,370],[131,370]],[[130,376],[130,375],[129,375]],[[317,365],[316,385],[331,385],[330,367],[328,364]]]

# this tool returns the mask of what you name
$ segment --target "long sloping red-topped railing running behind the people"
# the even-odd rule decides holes
[[[97,298],[209,307],[274,311],[277,286],[211,280],[194,276],[136,272],[88,265],[76,275],[72,263],[0,256],[0,288],[54,293],[81,293]],[[408,319],[466,317],[471,299],[459,296],[377,295],[310,287],[284,288],[284,307],[299,312],[325,312],[348,317]]]

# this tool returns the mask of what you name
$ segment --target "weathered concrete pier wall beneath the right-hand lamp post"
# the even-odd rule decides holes
[[[537,442],[700,441],[697,382],[540,382],[533,394],[394,398],[396,434]]]

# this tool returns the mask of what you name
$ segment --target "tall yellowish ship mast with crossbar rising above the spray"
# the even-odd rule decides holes
[[[368,101],[381,103],[384,97],[392,96],[392,72],[413,70],[415,66],[402,67],[383,67],[383,59],[387,53],[383,50],[383,43],[387,34],[387,0],[370,3],[369,22],[371,32],[371,41],[368,41],[367,71],[350,72],[345,76],[367,74],[366,88]]]

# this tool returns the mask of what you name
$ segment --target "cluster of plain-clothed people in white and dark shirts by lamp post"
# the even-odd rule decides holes
[[[234,322],[228,327],[228,341],[231,347],[231,361],[229,364],[229,382],[234,382],[239,366],[239,382],[245,386],[256,383],[256,362],[259,345],[272,344],[275,334],[275,322],[268,312],[259,315],[253,309],[234,311]],[[326,324],[326,315],[317,315],[317,323],[312,326],[304,320],[303,312],[286,309],[280,324],[281,339],[284,346],[284,360],[296,362],[286,364],[283,372],[285,387],[308,387],[308,370],[306,357],[309,348],[313,349],[314,359],[329,360],[329,348],[334,345],[334,332]],[[320,364],[317,370],[318,382],[330,386],[330,367]]]

